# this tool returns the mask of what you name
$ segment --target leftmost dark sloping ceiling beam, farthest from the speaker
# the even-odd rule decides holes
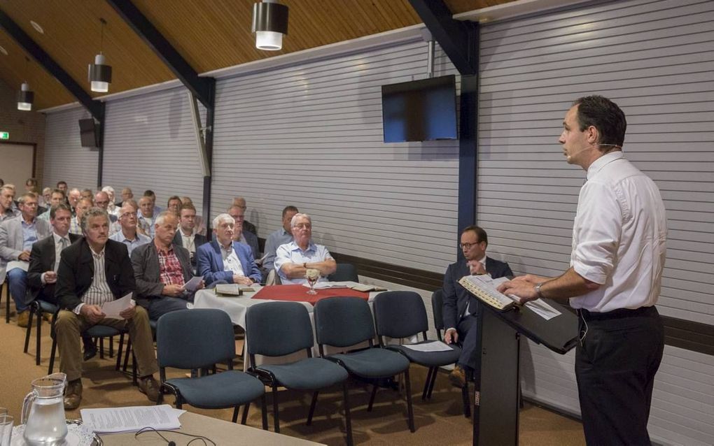
[[[0,26],[7,31],[16,42],[21,46],[32,59],[35,59],[38,64],[40,64],[49,74],[54,76],[54,78],[61,83],[64,88],[66,88],[77,101],[86,108],[91,116],[93,116],[100,123],[104,121],[104,103],[101,101],[94,101],[94,99],[89,96],[89,93],[84,91],[84,88],[79,86],[74,78],[69,76],[64,69],[57,64],[54,59],[52,59],[49,54],[47,54],[44,49],[42,49],[36,42],[26,34],[14,21],[10,18],[5,11],[0,9]]]

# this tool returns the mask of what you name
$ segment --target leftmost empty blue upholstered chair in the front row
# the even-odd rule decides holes
[[[184,402],[201,409],[234,407],[233,422],[238,409],[245,405],[241,424],[246,424],[251,401],[261,398],[263,429],[267,429],[265,387],[258,378],[233,370],[236,343],[231,318],[223,310],[196,309],[166,313],[156,324],[156,359],[159,362],[159,402],[164,392],[176,395],[176,408]],[[201,377],[166,379],[166,368],[186,370],[213,368],[225,363],[225,372]]]

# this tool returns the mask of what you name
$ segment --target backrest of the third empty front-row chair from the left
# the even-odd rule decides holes
[[[348,347],[374,338],[372,312],[362,298],[321,299],[316,303],[313,314],[320,345]]]

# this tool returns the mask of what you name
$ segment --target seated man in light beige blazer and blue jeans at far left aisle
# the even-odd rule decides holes
[[[25,193],[19,198],[21,215],[0,223],[0,270],[6,269],[10,295],[15,301],[17,325],[26,327],[27,269],[32,245],[50,234],[49,223],[37,220],[37,198]]]

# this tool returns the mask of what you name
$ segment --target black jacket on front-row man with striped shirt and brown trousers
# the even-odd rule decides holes
[[[115,299],[136,291],[134,268],[131,268],[126,245],[107,240],[104,245],[104,273],[106,283]],[[94,259],[86,238],[64,248],[59,260],[55,295],[61,308],[74,310],[82,303],[81,296],[94,280]]]

